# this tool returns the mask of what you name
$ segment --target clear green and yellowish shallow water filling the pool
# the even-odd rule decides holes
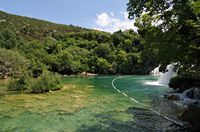
[[[64,88],[47,94],[9,94],[0,84],[0,131],[181,131],[117,93],[116,76],[65,77]],[[176,119],[181,108],[160,95],[170,89],[147,85],[153,76],[129,76],[115,81],[128,96]]]

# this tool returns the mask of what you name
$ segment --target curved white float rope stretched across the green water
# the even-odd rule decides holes
[[[135,103],[137,103],[137,104],[143,106],[144,108],[146,108],[147,110],[149,110],[149,111],[155,113],[156,115],[158,115],[158,116],[164,118],[165,120],[168,120],[168,121],[170,121],[170,122],[172,122],[172,123],[174,123],[174,124],[176,124],[176,125],[182,126],[182,127],[184,126],[183,123],[177,122],[177,121],[175,121],[175,120],[173,120],[173,119],[171,119],[171,118],[169,118],[169,117],[167,117],[167,116],[162,115],[161,113],[159,113],[159,112],[157,112],[157,111],[155,111],[155,110],[149,108],[148,106],[144,105],[143,103],[137,101],[136,99],[134,99],[134,98],[132,98],[132,97],[129,97],[127,94],[125,94],[125,93],[121,92],[119,89],[117,89],[117,87],[114,85],[114,82],[115,82],[117,79],[119,79],[119,78],[124,78],[124,77],[129,77],[129,76],[119,76],[119,77],[116,77],[116,78],[114,78],[114,79],[112,80],[112,87],[113,87],[118,93],[120,93],[120,94],[122,94],[123,96],[129,98],[131,101],[133,101],[133,102],[135,102]]]

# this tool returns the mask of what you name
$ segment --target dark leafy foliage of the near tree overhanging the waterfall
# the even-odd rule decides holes
[[[178,62],[180,77],[200,78],[199,0],[129,0],[128,11],[161,70]]]

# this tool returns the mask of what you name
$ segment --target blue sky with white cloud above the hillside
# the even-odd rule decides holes
[[[55,23],[107,32],[134,29],[128,0],[0,0],[0,10]]]

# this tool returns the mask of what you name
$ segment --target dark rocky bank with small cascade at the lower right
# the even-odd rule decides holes
[[[182,93],[168,93],[165,95],[168,100],[178,102],[185,106],[185,109],[178,116],[183,122],[188,122],[194,131],[200,131],[200,88],[193,87]]]

